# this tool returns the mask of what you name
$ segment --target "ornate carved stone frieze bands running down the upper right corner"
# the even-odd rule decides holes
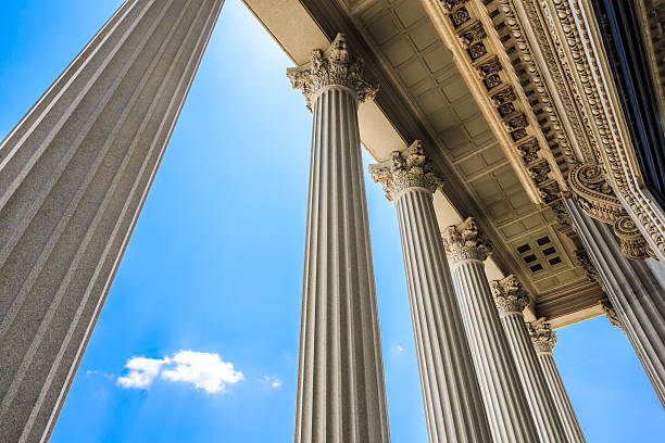
[[[525,5],[531,1],[525,1]],[[565,83],[557,85],[559,89],[575,91],[578,113],[587,118],[590,125],[589,132],[598,135],[599,143],[595,145],[597,152],[593,156],[606,166],[607,176],[616,192],[622,195],[641,227],[649,233],[658,257],[663,258],[665,257],[665,212],[654,206],[639,186],[641,172],[632,154],[620,103],[611,86],[614,80],[606,68],[600,68],[597,62],[605,61],[606,55],[602,52],[602,42],[598,40],[597,33],[589,30],[589,27],[595,23],[595,17],[582,12],[587,10],[580,0],[553,0],[552,4],[553,13],[549,7],[535,7],[545,17],[549,35],[559,53],[557,60],[547,60],[547,63],[552,71],[557,65],[567,69]],[[529,15],[529,21],[532,29],[538,29],[540,25],[536,16]],[[550,45],[543,42],[543,47]]]

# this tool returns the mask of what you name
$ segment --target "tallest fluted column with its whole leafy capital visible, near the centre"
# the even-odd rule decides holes
[[[287,75],[314,114],[294,441],[388,442],[357,129],[376,88],[342,34]]]

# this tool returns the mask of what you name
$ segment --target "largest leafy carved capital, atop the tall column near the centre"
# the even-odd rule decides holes
[[[287,77],[293,88],[302,91],[311,111],[316,96],[329,86],[351,89],[359,102],[373,99],[378,87],[365,79],[364,69],[363,60],[349,53],[346,37],[340,33],[326,51],[316,49],[309,63],[288,68]]]

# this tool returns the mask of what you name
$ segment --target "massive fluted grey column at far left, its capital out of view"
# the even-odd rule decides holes
[[[222,8],[128,0],[0,145],[0,441],[51,433]]]

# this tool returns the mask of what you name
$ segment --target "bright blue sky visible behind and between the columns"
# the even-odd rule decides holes
[[[3,2],[0,132],[118,4]],[[312,117],[289,66],[228,0],[52,442],[292,439]],[[391,436],[426,442],[397,216],[366,181]],[[560,329],[555,356],[589,442],[662,441],[663,409],[604,317]]]

